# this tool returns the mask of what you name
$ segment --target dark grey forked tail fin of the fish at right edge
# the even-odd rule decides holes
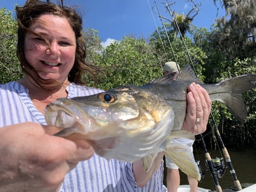
[[[243,75],[230,78],[221,81],[217,85],[222,87],[221,90],[224,90],[223,92],[227,92],[228,90],[228,94],[222,94],[221,99],[218,98],[215,100],[223,102],[238,120],[245,122],[248,111],[245,107],[242,93],[256,87],[256,75]]]

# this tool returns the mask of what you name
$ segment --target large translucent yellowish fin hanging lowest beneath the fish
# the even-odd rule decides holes
[[[164,154],[185,174],[196,180],[201,179],[198,165],[196,165],[193,152],[191,151],[191,146],[180,143],[177,145],[172,144],[168,149],[164,150]]]

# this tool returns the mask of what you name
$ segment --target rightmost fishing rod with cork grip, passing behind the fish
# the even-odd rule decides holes
[[[168,2],[168,0],[166,0],[166,3],[167,3],[166,6],[170,5],[170,3]],[[186,53],[187,53],[187,55],[188,55],[188,57],[189,57],[190,63],[191,63],[191,65],[193,66],[193,69],[194,69],[194,72],[195,72],[195,75],[196,75],[196,71],[195,71],[195,67],[194,67],[194,65],[193,65],[193,61],[191,60],[191,57],[190,57],[189,52],[188,52],[188,48],[187,48],[186,45],[185,45],[185,41],[184,41],[184,39],[183,39],[183,36],[181,35],[180,29],[179,29],[178,23],[176,22],[176,18],[174,17],[173,11],[171,11],[170,6],[168,6],[168,7],[166,7],[166,8],[168,9],[168,11],[169,11],[171,17],[173,18],[173,21],[174,21],[174,23],[175,23],[174,26],[175,26],[176,28],[178,28],[178,31],[179,31],[180,37],[181,37],[181,41],[184,43],[184,47],[185,47]],[[196,77],[197,77],[197,75],[196,75]],[[241,189],[242,189],[242,186],[241,186],[241,184],[240,184],[240,181],[239,181],[238,178],[237,178],[237,174],[235,173],[234,167],[233,167],[233,165],[232,165],[232,161],[231,161],[231,159],[230,159],[229,152],[228,152],[227,148],[225,147],[223,140],[221,139],[221,136],[220,136],[220,133],[219,133],[219,130],[218,130],[218,126],[216,126],[216,122],[215,122],[215,120],[214,120],[214,117],[213,117],[212,112],[210,112],[210,116],[211,116],[211,120],[213,121],[213,124],[214,124],[214,125],[213,125],[214,131],[215,131],[215,133],[216,133],[216,135],[217,135],[217,138],[218,138],[219,143],[220,143],[220,145],[221,145],[221,149],[223,150],[223,154],[224,154],[225,160],[226,160],[226,162],[227,162],[227,164],[228,164],[228,167],[229,167],[229,170],[230,170],[230,174],[232,174],[232,176],[233,176],[234,185],[235,185],[235,187],[237,188],[237,190],[241,190]],[[201,139],[203,139],[202,136],[201,136]],[[202,141],[203,141],[203,140],[202,140]],[[204,142],[204,141],[203,141],[203,142]],[[206,146],[205,146],[205,147],[206,147]]]

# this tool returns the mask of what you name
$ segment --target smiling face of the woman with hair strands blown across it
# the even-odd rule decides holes
[[[64,82],[75,62],[75,32],[65,17],[46,14],[38,19],[29,28],[49,40],[51,51],[41,37],[27,33],[25,58],[43,80]]]

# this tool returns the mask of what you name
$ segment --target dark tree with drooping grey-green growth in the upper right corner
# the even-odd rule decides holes
[[[216,3],[216,0],[214,0]],[[256,1],[220,0],[226,15],[216,22],[215,47],[232,61],[235,57],[255,57]]]

